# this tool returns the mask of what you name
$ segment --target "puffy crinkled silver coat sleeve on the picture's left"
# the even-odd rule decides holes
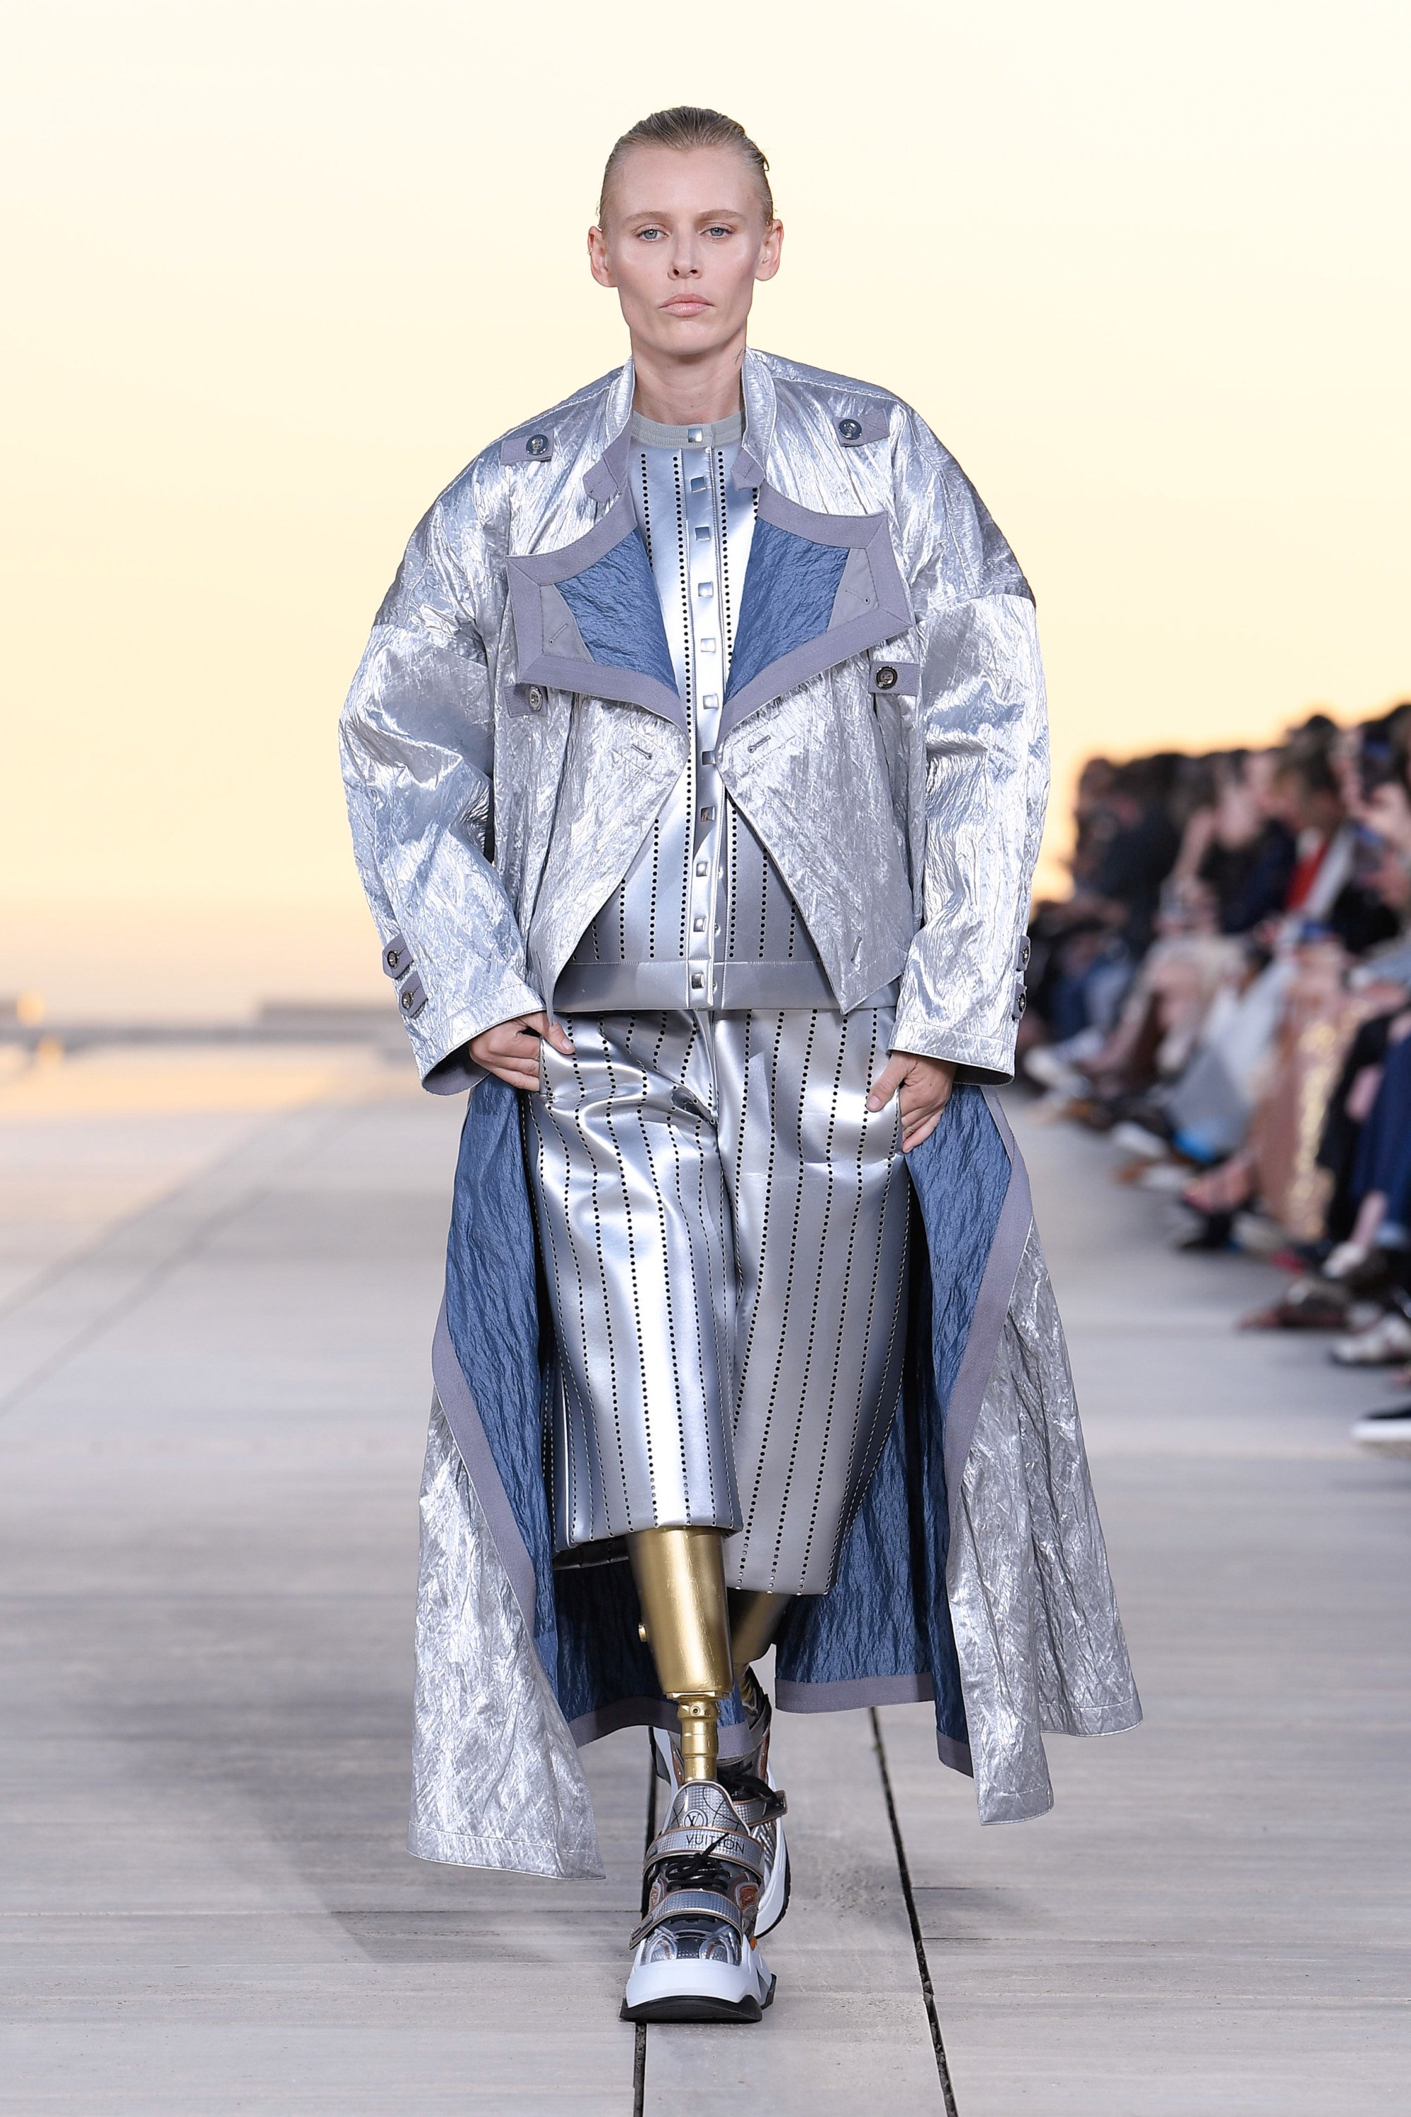
[[[542,1008],[487,853],[493,713],[484,637],[438,502],[417,527],[341,720],[353,851],[427,1088],[478,1067],[465,1044]]]

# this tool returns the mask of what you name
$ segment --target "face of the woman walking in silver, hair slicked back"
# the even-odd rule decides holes
[[[755,279],[778,271],[778,220],[732,148],[630,148],[588,231],[599,286],[618,290],[633,349],[683,360],[745,341]]]

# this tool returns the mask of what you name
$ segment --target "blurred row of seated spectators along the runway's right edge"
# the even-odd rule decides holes
[[[1073,893],[1030,940],[1022,1071],[1180,1198],[1183,1247],[1290,1268],[1250,1323],[1407,1368],[1411,703],[1276,749],[1094,758]],[[1411,1397],[1354,1431],[1411,1450]]]

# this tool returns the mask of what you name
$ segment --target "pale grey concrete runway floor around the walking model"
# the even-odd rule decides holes
[[[941,2117],[918,1939],[958,2117],[1411,2106],[1386,1385],[1238,1334],[1276,1274],[1024,1101],[1144,1727],[982,1831],[929,1708],[781,1715],[753,2030],[618,2022],[641,1732],[586,1753],[607,1880],[406,1854],[459,1116],[358,1052],[0,1082],[0,2111]]]

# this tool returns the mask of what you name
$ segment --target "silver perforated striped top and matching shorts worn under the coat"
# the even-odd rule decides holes
[[[732,1586],[825,1594],[901,1393],[910,1181],[891,1006],[833,1006],[715,771],[753,495],[740,423],[635,421],[692,756],[554,995],[527,1158],[558,1340],[561,1550],[728,1533]],[[878,995],[891,997],[891,995]]]

